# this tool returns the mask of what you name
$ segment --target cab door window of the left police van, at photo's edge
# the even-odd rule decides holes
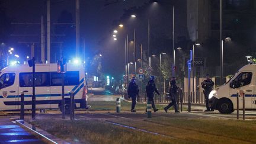
[[[0,77],[0,88],[6,88],[14,84],[15,81],[15,73],[4,73]]]

